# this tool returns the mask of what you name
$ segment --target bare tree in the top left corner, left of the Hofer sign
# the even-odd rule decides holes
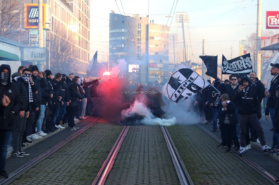
[[[28,35],[28,30],[23,29],[24,5],[21,0],[0,0],[0,36],[26,42],[23,35]]]

